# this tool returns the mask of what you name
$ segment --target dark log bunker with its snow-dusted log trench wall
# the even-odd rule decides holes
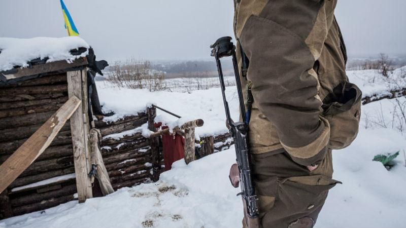
[[[107,62],[87,48],[71,54],[78,56],[71,62],[35,59],[0,71],[0,219],[157,181],[163,170],[158,136],[167,132],[146,138],[134,131],[146,123],[156,131],[155,106],[103,121],[92,77]],[[232,144],[228,134],[194,141],[198,125],[176,130],[186,138],[186,162],[195,159],[195,145],[204,157]]]

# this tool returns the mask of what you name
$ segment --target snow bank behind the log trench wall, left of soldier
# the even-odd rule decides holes
[[[178,118],[157,109],[155,122],[162,122],[171,127],[202,119],[205,124],[196,128],[196,137],[219,135],[228,132],[225,126],[224,106],[219,88],[196,90],[189,93],[158,91],[146,89],[131,90],[116,88],[107,81],[97,81],[97,92],[105,112],[114,111],[115,115],[104,118],[106,122],[116,121],[125,116],[145,111],[151,103],[183,117]],[[238,96],[235,87],[227,87],[226,97],[229,101],[234,120],[238,119]],[[210,121],[209,121],[210,120]]]

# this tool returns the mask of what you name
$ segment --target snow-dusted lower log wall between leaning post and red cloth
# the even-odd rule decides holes
[[[141,131],[133,131],[148,119],[148,113],[141,112],[115,122],[95,122],[103,136],[101,155],[114,189],[152,180],[152,142],[143,137]]]

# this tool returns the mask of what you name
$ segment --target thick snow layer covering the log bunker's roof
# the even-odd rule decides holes
[[[27,62],[48,57],[47,62],[66,60],[71,62],[79,57],[84,57],[88,52],[80,56],[73,56],[70,51],[90,46],[78,36],[61,38],[35,37],[31,39],[16,39],[0,37],[0,71],[10,70],[14,66],[27,67]]]

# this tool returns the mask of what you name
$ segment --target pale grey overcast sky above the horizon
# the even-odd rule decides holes
[[[98,59],[210,59],[232,34],[232,0],[65,0]],[[340,0],[336,17],[350,56],[406,54],[406,1]],[[59,0],[0,0],[0,36],[67,35]]]

